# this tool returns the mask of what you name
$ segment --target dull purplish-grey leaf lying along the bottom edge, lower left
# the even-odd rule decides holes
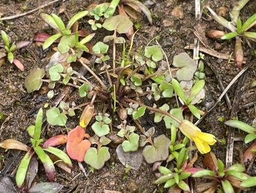
[[[39,192],[46,192],[46,193],[57,193],[63,188],[61,184],[58,183],[39,183],[30,188],[28,193],[39,193]]]

